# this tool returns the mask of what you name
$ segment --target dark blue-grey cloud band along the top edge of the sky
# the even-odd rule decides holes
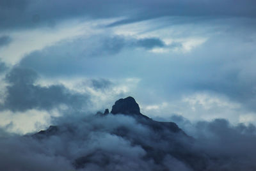
[[[1,1],[0,29],[54,26],[65,19],[128,17],[116,26],[164,16],[255,17],[255,1]]]

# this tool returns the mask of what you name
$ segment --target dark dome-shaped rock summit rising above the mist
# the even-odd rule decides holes
[[[134,98],[129,96],[116,101],[111,114],[140,114],[140,107]]]

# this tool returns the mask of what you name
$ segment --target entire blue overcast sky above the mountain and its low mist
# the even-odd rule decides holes
[[[254,0],[1,0],[0,126],[38,131],[126,96],[162,121],[256,124],[255,43]]]

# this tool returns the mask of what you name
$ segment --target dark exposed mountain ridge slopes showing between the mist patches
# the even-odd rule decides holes
[[[140,131],[137,131],[136,128],[132,128],[133,130],[131,130],[131,128],[129,126],[127,127],[125,124],[117,126],[115,129],[109,131],[109,133],[110,135],[115,135],[129,141],[132,146],[140,146],[146,152],[143,157],[144,160],[154,160],[154,163],[161,165],[164,158],[166,158],[166,155],[168,156],[171,154],[174,158],[177,158],[177,160],[186,163],[186,165],[188,165],[187,167],[195,170],[202,170],[202,165],[198,167],[193,162],[195,158],[198,158],[198,160],[204,163],[204,158],[197,155],[195,156],[195,154],[191,152],[191,149],[186,147],[187,145],[184,145],[184,143],[187,144],[193,142],[193,138],[186,135],[186,133],[175,123],[154,121],[146,115],[141,114],[138,103],[136,103],[131,96],[117,100],[110,113],[108,109],[106,109],[104,113],[97,112],[97,114],[95,114],[95,119],[99,118],[104,121],[104,117],[107,119],[108,117],[118,117],[122,115],[133,118],[138,126],[143,126],[143,128],[148,129],[151,134],[150,138],[145,140],[142,138],[143,134],[141,134]],[[50,126],[47,130],[35,133],[33,137],[42,140],[51,136],[61,136],[65,134],[75,136],[76,126]],[[168,142],[167,149],[166,147],[161,147],[162,141]],[[156,147],[154,144],[159,144],[160,146]],[[95,158],[97,158],[96,161],[94,160]],[[101,167],[108,165],[108,152],[102,151],[102,149],[96,149],[90,154],[84,154],[74,159],[74,163],[72,164],[75,168],[80,169],[86,167],[86,165],[90,163],[100,165]]]

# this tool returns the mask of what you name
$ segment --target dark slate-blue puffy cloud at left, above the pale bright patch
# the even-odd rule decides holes
[[[6,75],[6,81],[10,85],[6,87],[6,97],[1,109],[13,112],[33,108],[51,110],[61,104],[79,109],[88,102],[87,94],[72,93],[63,85],[35,85],[36,78],[38,75],[33,70],[13,68]]]

